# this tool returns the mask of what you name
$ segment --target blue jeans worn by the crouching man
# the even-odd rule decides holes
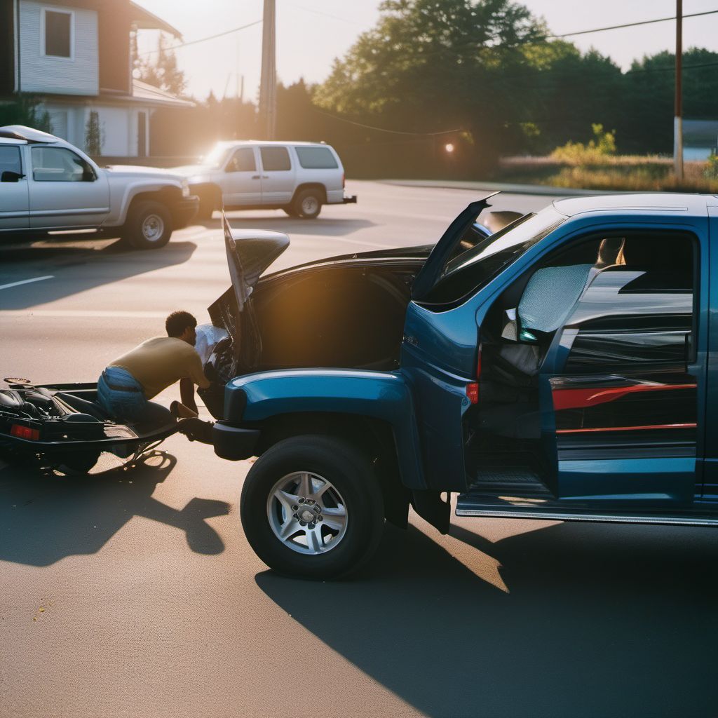
[[[114,419],[172,424],[169,409],[147,401],[139,381],[126,369],[110,366],[97,381],[98,404]]]

